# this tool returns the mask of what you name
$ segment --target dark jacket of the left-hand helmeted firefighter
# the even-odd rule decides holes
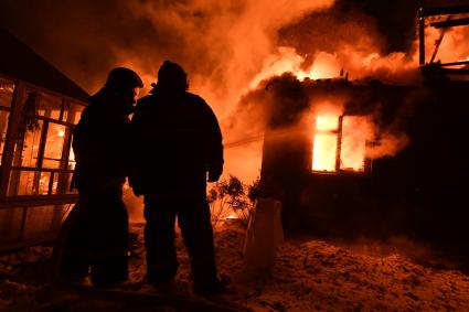
[[[130,120],[105,89],[89,100],[73,132],[73,185],[82,194],[120,190],[128,175]]]

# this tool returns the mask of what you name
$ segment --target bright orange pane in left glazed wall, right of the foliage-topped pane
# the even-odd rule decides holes
[[[49,123],[47,138],[44,148],[43,168],[58,169],[62,161],[66,127],[54,122]]]

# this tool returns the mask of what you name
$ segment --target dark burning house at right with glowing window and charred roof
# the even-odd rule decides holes
[[[344,71],[265,82],[271,108],[260,175],[266,194],[284,203],[287,233],[466,244],[469,62],[435,60],[445,32],[468,25],[468,13],[419,11],[412,84],[349,80]],[[435,29],[433,45],[425,31]]]

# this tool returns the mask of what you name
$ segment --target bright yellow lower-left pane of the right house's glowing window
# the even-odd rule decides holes
[[[316,135],[312,149],[312,170],[335,171],[337,135]]]

